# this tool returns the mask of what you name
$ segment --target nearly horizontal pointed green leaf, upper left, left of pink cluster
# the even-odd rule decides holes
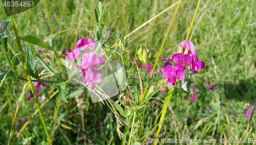
[[[33,43],[33,44],[36,44],[36,45],[38,45],[38,46],[41,46],[41,47],[44,47],[44,48],[47,48],[47,49],[49,49],[49,50],[53,50],[54,51],[54,49],[51,47],[51,46],[49,46],[48,44],[46,44],[45,42],[40,42],[41,40],[39,39],[39,38],[37,38],[37,37],[34,37],[34,36],[32,36],[32,35],[28,35],[28,36],[19,36],[19,40],[23,40],[23,41],[27,41],[27,42],[29,42],[29,43]],[[40,43],[39,43],[40,42]],[[38,43],[38,44],[37,44]]]

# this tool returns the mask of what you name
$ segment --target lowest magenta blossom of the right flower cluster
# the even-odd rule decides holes
[[[167,79],[167,83],[175,85],[176,79],[183,80],[185,73],[182,69],[175,68],[174,66],[167,66],[163,70],[163,76]]]

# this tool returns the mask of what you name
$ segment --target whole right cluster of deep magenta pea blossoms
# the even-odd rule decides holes
[[[175,86],[176,79],[183,80],[185,78],[186,65],[190,65],[191,74],[196,74],[205,68],[204,62],[200,62],[198,59],[194,44],[187,40],[179,44],[177,54],[174,54],[172,58],[168,57],[162,60],[166,63],[162,67],[161,73],[167,78],[167,83],[172,84],[170,86]],[[172,63],[177,64],[174,67]]]

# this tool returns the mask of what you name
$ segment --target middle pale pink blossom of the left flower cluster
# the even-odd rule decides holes
[[[90,66],[98,67],[105,64],[105,56],[97,56],[94,52],[85,53],[82,55],[82,68],[88,69]]]

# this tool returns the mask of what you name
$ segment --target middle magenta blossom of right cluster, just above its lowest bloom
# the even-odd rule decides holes
[[[172,60],[174,63],[178,62],[176,64],[176,68],[183,69],[183,70],[185,69],[186,64],[190,65],[192,63],[191,56],[189,56],[188,54],[183,54],[183,53],[174,54],[172,57]]]

